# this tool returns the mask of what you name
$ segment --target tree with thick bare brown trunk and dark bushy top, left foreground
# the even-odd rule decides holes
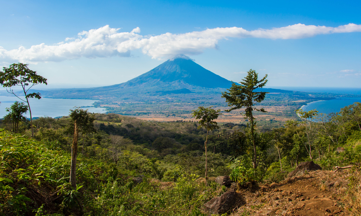
[[[70,183],[73,188],[77,187],[77,154],[78,154],[78,133],[80,130],[90,130],[93,127],[94,118],[90,116],[87,110],[80,108],[70,109],[70,118],[74,122],[73,144],[71,145],[71,165],[70,165]]]

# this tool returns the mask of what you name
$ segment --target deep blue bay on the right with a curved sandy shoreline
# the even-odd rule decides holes
[[[353,104],[355,102],[361,103],[361,98],[337,98],[334,100],[319,100],[315,102],[311,102],[302,109],[304,111],[310,111],[312,109],[316,109],[318,113],[332,113],[332,112],[340,112],[340,109]]]

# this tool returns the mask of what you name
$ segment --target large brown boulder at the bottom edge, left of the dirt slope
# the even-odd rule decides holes
[[[236,192],[234,189],[227,191],[220,197],[214,197],[205,203],[204,210],[212,215],[222,215],[229,211],[236,202]]]

